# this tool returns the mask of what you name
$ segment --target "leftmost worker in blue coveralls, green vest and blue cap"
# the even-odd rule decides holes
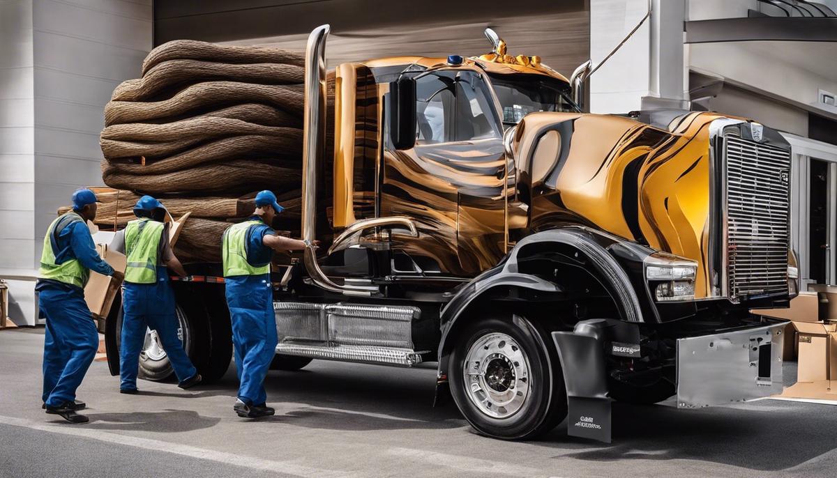
[[[96,217],[96,195],[89,189],[73,193],[73,209],[52,222],[41,254],[38,306],[46,318],[44,336],[44,394],[48,414],[70,423],[90,421],[77,413],[85,403],[75,391],[99,350],[99,332],[85,303],[84,287],[90,271],[121,276],[96,252],[87,221]]]

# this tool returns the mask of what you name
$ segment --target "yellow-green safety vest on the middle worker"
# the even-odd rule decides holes
[[[128,222],[125,228],[125,282],[157,282],[157,250],[164,227],[162,222],[146,217]]]

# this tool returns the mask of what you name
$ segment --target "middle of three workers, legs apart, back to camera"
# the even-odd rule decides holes
[[[142,196],[134,206],[136,219],[117,233],[111,247],[125,251],[125,287],[122,293],[122,342],[120,348],[121,394],[136,394],[136,374],[146,330],[157,332],[162,348],[177,376],[177,386],[189,389],[201,375],[177,338],[174,292],[168,270],[186,277],[169,243],[166,208],[151,196]]]

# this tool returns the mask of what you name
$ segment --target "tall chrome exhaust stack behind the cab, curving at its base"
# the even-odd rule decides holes
[[[302,143],[302,238],[311,244],[316,239],[317,172],[320,159],[326,154],[326,38],[331,30],[321,25],[308,36],[306,47],[306,103],[303,116],[305,128]],[[303,256],[306,271],[317,287],[331,292],[369,296],[368,290],[345,287],[326,277],[316,262],[316,249],[306,247]]]

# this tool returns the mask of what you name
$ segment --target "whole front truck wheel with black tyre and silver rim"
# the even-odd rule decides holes
[[[567,416],[557,354],[526,318],[488,318],[465,326],[450,354],[451,394],[483,435],[524,440]]]

